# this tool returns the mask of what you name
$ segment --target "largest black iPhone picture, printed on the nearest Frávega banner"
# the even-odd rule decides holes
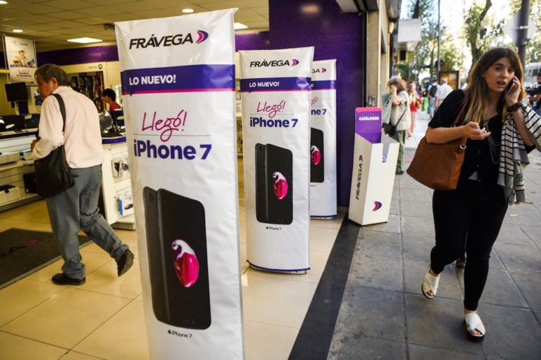
[[[165,189],[157,191],[157,199],[159,245],[149,246],[149,252],[156,250],[160,257],[158,260],[149,254],[156,319],[180,328],[209,328],[211,305],[204,207],[197,200]],[[154,261],[159,261],[157,266]],[[158,273],[155,267],[161,269],[156,281],[152,278],[153,273]],[[155,300],[163,309],[156,309]]]

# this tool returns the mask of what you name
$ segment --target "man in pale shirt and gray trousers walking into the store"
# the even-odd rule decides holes
[[[116,260],[117,274],[123,275],[133,264],[133,252],[122,243],[98,210],[101,163],[105,154],[101,146],[97,108],[92,100],[70,87],[68,75],[57,65],[40,66],[35,78],[43,104],[39,138],[31,144],[32,155],[35,159],[45,158],[63,144],[75,182],[66,191],[46,198],[51,227],[64,260],[62,272],[51,280],[57,285],[85,283],[85,264],[81,262],[77,237],[80,229]],[[66,121],[60,104],[54,96],[49,96],[51,94],[61,96],[66,108]]]

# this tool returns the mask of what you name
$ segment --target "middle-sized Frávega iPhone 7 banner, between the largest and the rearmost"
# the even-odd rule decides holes
[[[313,47],[240,51],[247,260],[306,271]]]

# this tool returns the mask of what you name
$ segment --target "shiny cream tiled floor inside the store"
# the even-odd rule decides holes
[[[344,214],[311,221],[307,274],[273,274],[247,266],[242,205],[241,198],[246,359],[287,359]],[[12,227],[51,231],[44,200],[0,212],[0,231]],[[149,359],[135,231],[117,232],[135,252],[135,266],[120,278],[114,259],[92,243],[81,250],[84,285],[51,283],[59,260],[0,290],[0,359]]]

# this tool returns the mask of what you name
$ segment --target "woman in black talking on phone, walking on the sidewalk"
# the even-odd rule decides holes
[[[536,146],[541,150],[541,120],[521,103],[523,96],[523,68],[516,52],[491,49],[473,65],[466,90],[455,90],[445,98],[426,132],[430,143],[468,137],[456,190],[433,194],[435,246],[421,290],[428,299],[435,297],[440,273],[461,255],[467,233],[464,323],[471,340],[483,339],[486,332],[477,309],[492,245],[508,204],[515,198],[524,201],[523,184],[514,181],[521,176],[516,173],[520,167],[514,170],[512,166],[518,161],[514,152],[527,159],[526,153]],[[451,127],[464,101],[463,122]],[[537,132],[531,134],[528,129]]]

